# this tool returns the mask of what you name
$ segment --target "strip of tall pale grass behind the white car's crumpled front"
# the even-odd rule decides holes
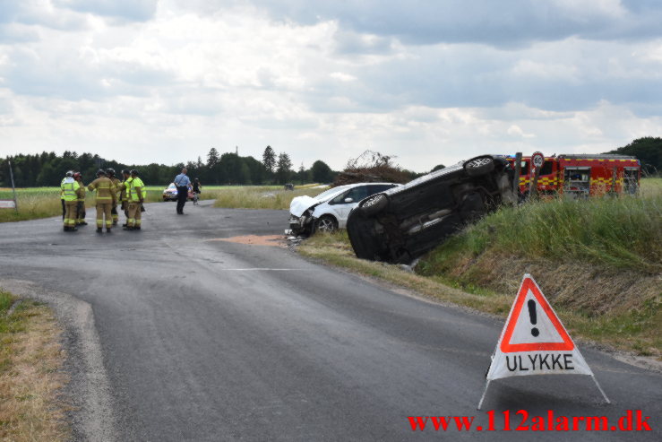
[[[328,187],[316,184],[297,186],[293,191],[283,190],[281,186],[245,186],[224,190],[216,197],[215,207],[230,209],[289,209],[295,196],[314,196],[321,194]]]

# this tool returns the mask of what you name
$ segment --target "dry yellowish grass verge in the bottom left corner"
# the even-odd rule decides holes
[[[0,290],[0,439],[68,440],[61,333],[50,310]]]

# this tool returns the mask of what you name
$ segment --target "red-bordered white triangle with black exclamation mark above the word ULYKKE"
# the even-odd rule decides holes
[[[505,325],[501,351],[574,349],[574,343],[537,283],[526,275]]]

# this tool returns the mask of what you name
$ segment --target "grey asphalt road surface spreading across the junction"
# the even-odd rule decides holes
[[[502,321],[287,248],[218,240],[281,233],[286,212],[147,210],[141,232],[0,224],[0,286],[21,279],[89,303],[117,440],[662,440],[662,376],[588,348],[612,405],[589,377],[522,377],[494,382],[484,411],[615,422],[641,410],[652,432],[412,432],[416,415],[486,427],[476,405]]]

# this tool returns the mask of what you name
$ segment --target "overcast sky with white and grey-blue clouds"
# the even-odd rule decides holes
[[[659,0],[0,0],[0,155],[417,171],[662,135]]]

